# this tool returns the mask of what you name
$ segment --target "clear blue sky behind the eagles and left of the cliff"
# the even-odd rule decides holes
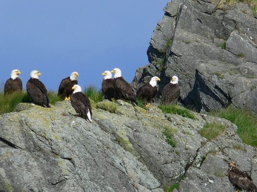
[[[100,89],[105,70],[120,68],[131,82],[148,64],[146,50],[169,0],[0,1],[0,83],[32,70],[48,90],[78,71],[79,84]]]

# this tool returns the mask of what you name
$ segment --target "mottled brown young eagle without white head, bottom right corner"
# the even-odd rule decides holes
[[[237,190],[257,191],[252,178],[246,173],[235,167],[235,162],[231,161],[228,166],[229,181]]]

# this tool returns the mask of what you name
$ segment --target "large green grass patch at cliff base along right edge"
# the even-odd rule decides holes
[[[229,106],[220,111],[211,112],[210,115],[230,120],[238,127],[237,134],[244,143],[257,146],[257,118],[256,114],[243,109],[235,109]]]

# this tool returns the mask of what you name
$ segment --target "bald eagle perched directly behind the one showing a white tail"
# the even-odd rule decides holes
[[[78,72],[73,72],[69,77],[63,79],[58,89],[58,95],[65,97],[65,100],[69,100],[70,94],[73,92],[71,89],[75,84],[78,84]]]

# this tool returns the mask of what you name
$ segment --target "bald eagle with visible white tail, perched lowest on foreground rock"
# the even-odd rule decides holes
[[[92,122],[92,109],[90,100],[82,93],[78,84],[72,87],[74,92],[70,95],[70,102],[76,113],[85,118],[88,122]]]

